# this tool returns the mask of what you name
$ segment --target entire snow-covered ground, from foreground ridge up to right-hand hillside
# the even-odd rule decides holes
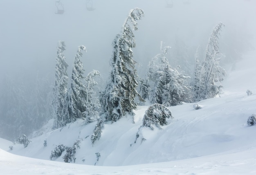
[[[0,139],[0,175],[255,175],[256,126],[247,126],[248,117],[256,114],[255,65],[248,64],[255,55],[227,70],[220,98],[200,101],[200,110],[193,109],[194,103],[170,107],[174,119],[162,130],[143,128],[146,140],[139,137],[136,144],[147,106],[135,111],[135,123],[130,116],[106,123],[94,146],[90,136],[95,123],[85,126],[82,120],[57,130],[50,130],[49,121],[27,148]],[[81,148],[76,150],[76,164],[63,163],[65,153],[49,160],[56,145],[72,146],[77,140]],[[99,161],[95,153],[101,154]]]

